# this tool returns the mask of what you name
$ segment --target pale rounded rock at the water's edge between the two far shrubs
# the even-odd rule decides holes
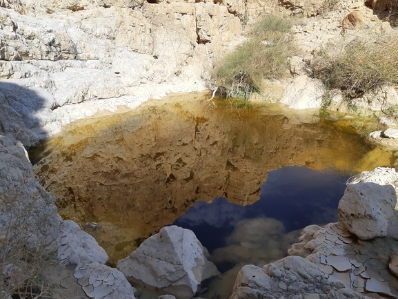
[[[279,103],[293,109],[319,108],[324,95],[321,80],[299,76],[286,86]]]

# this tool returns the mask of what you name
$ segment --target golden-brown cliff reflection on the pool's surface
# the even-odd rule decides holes
[[[70,126],[48,142],[52,153],[34,171],[64,218],[101,222],[93,234],[123,258],[197,200],[252,204],[268,172],[281,166],[344,171],[368,163],[371,148],[355,129],[366,123],[286,116],[272,107],[216,108],[206,98]],[[103,233],[109,237],[101,241]]]

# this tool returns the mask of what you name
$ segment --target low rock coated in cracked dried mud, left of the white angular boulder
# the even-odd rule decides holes
[[[135,289],[121,271],[99,262],[77,267],[74,277],[83,291],[94,299],[135,299]]]

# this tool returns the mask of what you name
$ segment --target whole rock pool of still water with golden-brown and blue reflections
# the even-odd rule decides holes
[[[64,219],[98,224],[86,230],[112,264],[174,223],[224,272],[203,297],[226,298],[242,264],[282,258],[297,230],[337,220],[347,178],[395,165],[395,153],[366,142],[373,118],[207,98],[75,122],[31,158]]]

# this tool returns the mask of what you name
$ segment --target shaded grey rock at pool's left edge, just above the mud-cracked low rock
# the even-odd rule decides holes
[[[59,230],[58,257],[61,264],[81,267],[84,264],[108,262],[108,255],[91,235],[73,221],[63,221]]]

